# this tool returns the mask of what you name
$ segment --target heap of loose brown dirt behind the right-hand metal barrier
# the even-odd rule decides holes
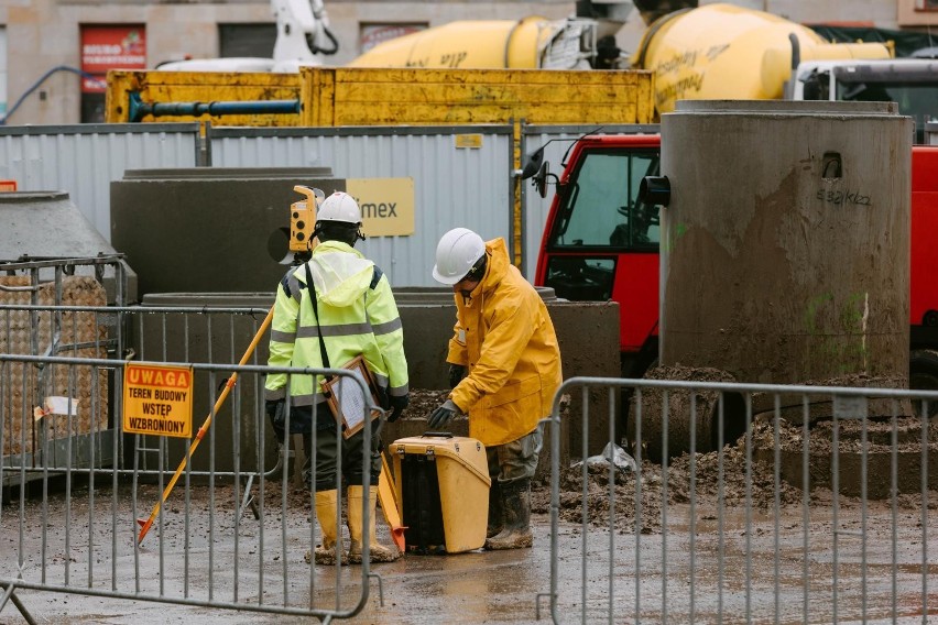
[[[410,417],[428,415],[445,399],[445,391],[415,391],[411,393]],[[838,420],[838,449],[841,454],[857,453],[862,446],[863,420]],[[921,419],[897,418],[866,421],[866,451],[890,450],[893,430],[901,454],[920,453]],[[930,458],[938,458],[938,423],[928,426]],[[778,420],[777,434],[779,452],[800,453],[804,448],[804,430],[800,425]],[[832,454],[833,421],[815,424],[808,432],[808,452],[810,457],[830,458]],[[657,534],[662,530],[663,502],[667,505],[688,504],[694,497],[699,514],[712,516],[720,507],[745,509],[746,505],[754,511],[771,513],[777,502],[779,507],[800,506],[804,492],[793,485],[798,483],[785,480],[783,472],[776,470],[775,426],[771,421],[757,421],[752,429],[752,436],[746,448],[746,437],[741,436],[735,443],[723,448],[722,453],[685,453],[674,458],[663,467],[654,462],[643,461],[641,467],[640,486],[636,487],[635,474],[617,471],[613,475],[613,489],[610,493],[610,475],[608,464],[586,465],[586,482],[582,467],[565,468],[560,473],[560,518],[565,522],[582,523],[586,498],[588,523],[595,526],[610,524],[610,502],[614,506],[614,527],[623,533],[636,529],[636,515],[640,514],[639,531]],[[548,478],[534,483],[532,493],[532,512],[537,514],[550,513],[550,484]],[[586,485],[583,485],[586,483]],[[586,493],[585,493],[586,491]],[[809,505],[829,506],[832,494],[829,489],[817,487],[808,493]],[[905,509],[920,509],[921,497],[901,495],[896,498],[897,506]],[[842,496],[839,504],[843,507],[860,505],[857,497]],[[884,502],[890,505],[891,502]],[[938,509],[938,493],[931,492],[928,497],[929,508]]]

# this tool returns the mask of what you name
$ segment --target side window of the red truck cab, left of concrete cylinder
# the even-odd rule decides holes
[[[637,195],[642,178],[658,169],[655,150],[587,152],[569,180],[548,245],[657,250],[659,207],[639,201]]]

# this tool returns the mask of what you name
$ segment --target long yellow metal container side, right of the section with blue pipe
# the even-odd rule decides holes
[[[299,81],[305,127],[654,121],[639,69],[301,67]]]

